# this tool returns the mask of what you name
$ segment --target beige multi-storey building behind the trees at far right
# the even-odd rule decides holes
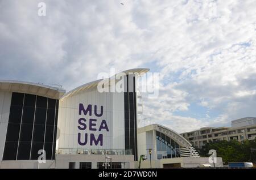
[[[252,121],[254,118],[242,118],[232,121],[234,127],[203,127],[200,130],[184,132],[181,135],[197,148],[202,148],[206,143],[217,140],[254,140],[256,124],[251,125]]]

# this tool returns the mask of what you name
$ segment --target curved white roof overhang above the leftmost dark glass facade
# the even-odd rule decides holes
[[[55,99],[60,99],[65,93],[61,88],[18,80],[0,80],[0,91],[28,93]]]

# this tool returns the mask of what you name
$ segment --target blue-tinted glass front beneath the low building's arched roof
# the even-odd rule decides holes
[[[170,137],[156,131],[156,152],[158,159],[180,157],[180,146]]]

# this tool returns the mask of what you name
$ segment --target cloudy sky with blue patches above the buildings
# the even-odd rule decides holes
[[[69,91],[112,67],[159,72],[151,123],[184,132],[256,117],[256,1],[0,0],[0,79]]]

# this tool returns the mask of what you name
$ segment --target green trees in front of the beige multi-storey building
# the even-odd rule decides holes
[[[256,152],[251,153],[251,148],[256,148],[256,139],[242,142],[237,140],[209,142],[197,151],[200,156],[208,157],[209,150],[214,149],[217,151],[217,157],[222,157],[224,164],[228,164],[228,162],[256,162]]]

